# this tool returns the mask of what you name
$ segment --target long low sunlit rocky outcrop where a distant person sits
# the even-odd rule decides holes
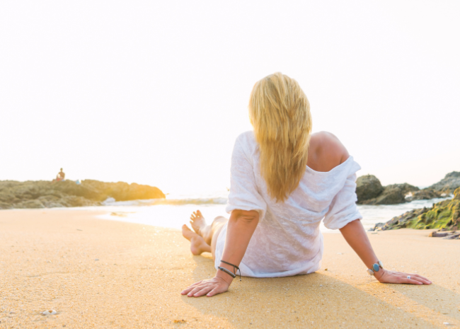
[[[83,180],[78,185],[72,180],[54,183],[45,180],[0,181],[0,209],[93,206],[108,197],[126,201],[160,199],[165,195],[158,187],[136,183]]]

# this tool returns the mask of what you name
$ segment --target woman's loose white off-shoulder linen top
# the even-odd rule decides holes
[[[306,166],[304,176],[289,198],[275,202],[260,175],[258,143],[252,131],[236,139],[231,156],[231,187],[226,212],[257,210],[259,223],[239,265],[247,277],[287,277],[315,272],[321,267],[323,235],[319,224],[341,229],[362,219],[357,210],[356,171],[350,156],[331,171]],[[224,252],[226,225],[217,238],[214,266]]]

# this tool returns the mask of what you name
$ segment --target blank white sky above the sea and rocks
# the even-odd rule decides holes
[[[384,185],[460,171],[459,1],[0,2],[0,180],[229,187],[256,81]]]

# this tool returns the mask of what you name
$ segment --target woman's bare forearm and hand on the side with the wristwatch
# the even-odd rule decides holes
[[[379,262],[359,219],[351,221],[343,226],[340,232],[342,232],[347,243],[355,250],[357,255],[360,256],[367,268],[372,269],[372,265]],[[410,275],[410,279],[408,279],[408,275]],[[429,279],[421,275],[393,272],[386,269],[380,269],[374,272],[374,276],[381,283],[431,284]]]

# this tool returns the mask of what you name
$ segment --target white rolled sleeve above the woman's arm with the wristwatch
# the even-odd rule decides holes
[[[362,219],[356,205],[356,178],[356,173],[349,175],[342,190],[335,195],[330,203],[329,210],[324,217],[324,226],[328,229],[342,229],[351,221]]]

